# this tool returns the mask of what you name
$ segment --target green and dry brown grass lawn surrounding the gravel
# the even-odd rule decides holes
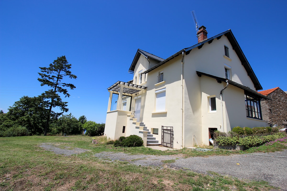
[[[192,149],[158,151],[146,147],[122,148],[105,144],[98,137],[91,144],[88,136],[0,137],[0,190],[270,190],[267,182],[242,181],[216,173],[198,174],[189,170],[135,166],[94,157],[102,151],[152,155],[227,155],[228,151],[200,152]],[[87,149],[77,155],[59,155],[39,147],[52,143],[58,147]],[[280,144],[280,143],[277,143]],[[281,144],[280,144],[281,145]],[[265,146],[268,147],[268,146]],[[267,149],[278,149],[276,143]],[[280,146],[279,149],[286,149]],[[258,151],[249,149],[248,152]],[[164,164],[174,162],[166,160]]]

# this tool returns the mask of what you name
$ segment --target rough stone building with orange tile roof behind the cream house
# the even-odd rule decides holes
[[[287,128],[287,94],[279,87],[258,92],[268,98],[261,98],[263,120],[269,125]]]

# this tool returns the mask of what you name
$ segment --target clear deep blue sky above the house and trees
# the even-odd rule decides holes
[[[2,0],[0,110],[47,90],[39,67],[65,55],[77,76],[69,113],[105,123],[107,88],[133,78],[138,48],[168,58],[197,44],[193,10],[208,38],[232,30],[263,90],[287,91],[287,1]]]

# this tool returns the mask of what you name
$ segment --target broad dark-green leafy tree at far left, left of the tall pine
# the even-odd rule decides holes
[[[17,125],[26,127],[32,134],[41,134],[46,122],[45,108],[46,102],[42,97],[23,96],[9,107],[1,126],[9,128]]]

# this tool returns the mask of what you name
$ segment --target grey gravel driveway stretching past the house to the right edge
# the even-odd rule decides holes
[[[96,157],[109,160],[128,161],[131,164],[141,166],[161,166],[163,160],[175,160],[170,163],[170,168],[184,168],[194,172],[216,172],[222,175],[230,175],[249,180],[264,180],[272,186],[287,190],[287,150],[275,153],[256,153],[269,156],[232,154],[229,156],[189,157],[170,155],[128,155],[125,153],[102,152]]]

